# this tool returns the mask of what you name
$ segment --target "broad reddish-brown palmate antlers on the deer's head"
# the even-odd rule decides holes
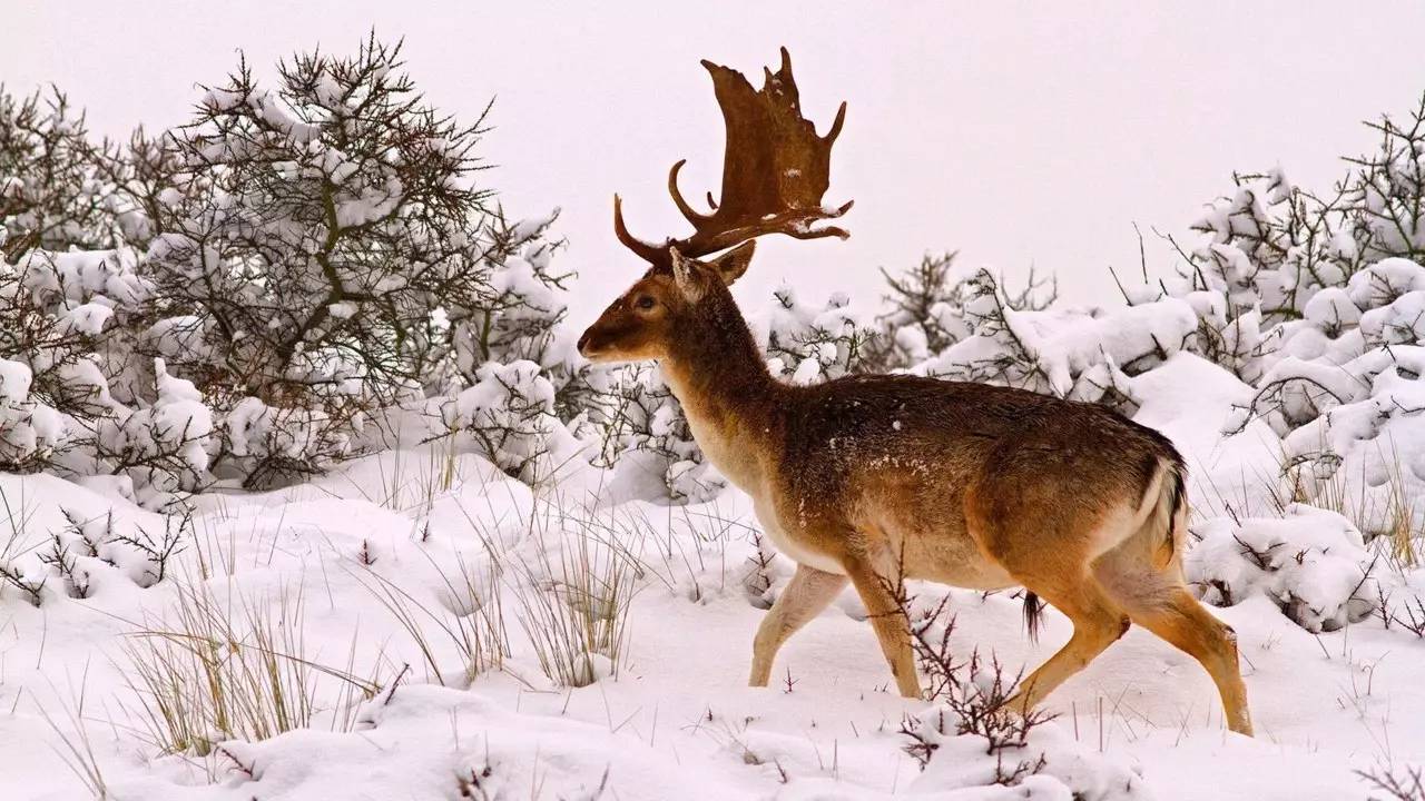
[[[703,61],[703,66],[712,76],[712,88],[727,124],[721,202],[714,202],[710,192],[711,212],[701,214],[688,205],[678,191],[678,171],[687,160],[678,161],[668,171],[668,194],[693,224],[693,235],[668,238],[661,245],[638,239],[628,232],[623,202],[614,195],[618,241],[648,264],[668,268],[668,248],[697,258],[764,234],[787,234],[798,239],[849,237],[846,229],[835,225],[814,228],[817,222],[841,217],[854,202],[846,201],[838,208],[821,205],[831,181],[831,145],[841,134],[846,104],[841,104],[826,135],[817,135],[817,127],[801,115],[791,56],[785,47],[781,68],[777,73],[764,70],[767,77],[761,91],[754,90],[737,70],[711,61]]]

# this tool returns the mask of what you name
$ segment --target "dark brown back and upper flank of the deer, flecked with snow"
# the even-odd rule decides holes
[[[821,505],[869,493],[931,512],[975,482],[1137,499],[1164,460],[1181,463],[1164,436],[1106,406],[906,375],[789,388],[781,429],[784,492]]]

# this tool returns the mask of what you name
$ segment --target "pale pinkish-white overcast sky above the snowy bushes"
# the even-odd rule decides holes
[[[683,232],[664,194],[718,182],[721,118],[698,58],[760,73],[791,48],[822,130],[846,100],[826,200],[855,198],[846,242],[762,244],[740,295],[881,292],[876,267],[960,249],[1010,275],[1053,269],[1074,301],[1110,301],[1137,269],[1133,222],[1181,231],[1235,170],[1282,164],[1325,185],[1359,125],[1425,90],[1422,3],[301,3],[0,0],[0,80],[54,81],[91,127],[180,123],[244,50],[259,76],[294,50],[406,37],[437,107],[497,97],[484,180],[514,215],[563,207],[561,265],[587,319],[641,268],[613,238],[624,194],[646,238]],[[755,81],[760,84],[760,80]],[[1149,261],[1170,257],[1149,234]]]

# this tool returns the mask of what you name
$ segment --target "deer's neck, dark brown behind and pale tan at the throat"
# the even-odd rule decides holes
[[[775,449],[778,398],[784,389],[732,296],[722,289],[668,348],[663,373],[683,405],[698,448],[742,492],[757,497]]]

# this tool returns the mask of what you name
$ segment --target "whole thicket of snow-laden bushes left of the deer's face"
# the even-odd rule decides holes
[[[430,108],[399,51],[296,56],[272,88],[242,63],[190,124],[124,147],[58,93],[0,97],[6,465],[131,475],[154,502],[272,485],[522,361],[577,413],[557,211],[487,204],[483,117]]]

